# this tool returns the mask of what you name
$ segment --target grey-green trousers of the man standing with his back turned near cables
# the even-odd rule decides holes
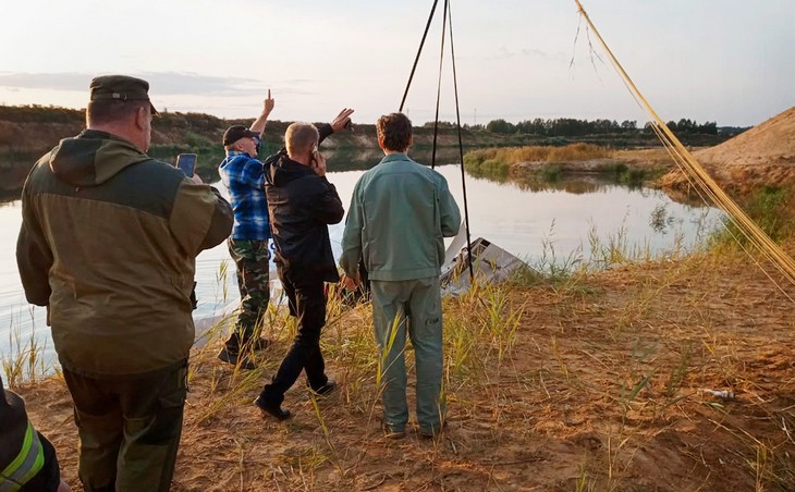
[[[436,432],[444,418],[442,388],[442,304],[439,278],[370,281],[376,342],[381,348],[383,421],[390,430],[408,422],[406,331],[417,368],[417,422]]]

